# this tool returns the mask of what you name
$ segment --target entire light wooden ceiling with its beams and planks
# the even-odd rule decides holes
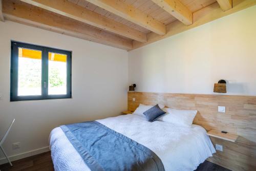
[[[255,4],[256,0],[0,0],[0,20],[133,50]]]

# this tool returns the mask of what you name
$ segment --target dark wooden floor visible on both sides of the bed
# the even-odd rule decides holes
[[[39,155],[31,156],[25,159],[20,159],[12,162],[13,166],[11,167],[8,163],[0,165],[1,171],[50,171],[54,170],[53,163],[51,159],[51,153],[46,152]],[[230,171],[224,167],[221,167],[217,164],[205,161],[200,164],[196,171]]]

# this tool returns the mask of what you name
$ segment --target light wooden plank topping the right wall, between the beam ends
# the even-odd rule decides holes
[[[148,33],[147,34],[147,42],[141,43],[138,41],[133,41],[133,49],[138,49],[140,47],[143,47],[145,45],[152,44],[153,42],[159,41],[161,39],[173,36],[175,34],[184,32],[189,29],[193,29],[195,27],[201,26],[203,24],[206,24],[208,22],[211,22],[215,19],[227,16],[229,14],[238,12],[240,10],[249,8],[256,5],[255,0],[236,0],[233,1],[233,8],[223,12],[222,9],[220,8],[219,4],[216,2],[214,4],[211,4],[201,10],[198,10],[194,12],[194,23],[190,26],[185,26],[178,20],[176,20],[173,23],[170,23],[169,25],[166,26],[166,34],[164,36],[159,36],[155,33]]]

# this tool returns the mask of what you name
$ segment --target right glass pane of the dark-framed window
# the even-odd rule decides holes
[[[67,55],[49,52],[48,71],[48,94],[67,94]]]

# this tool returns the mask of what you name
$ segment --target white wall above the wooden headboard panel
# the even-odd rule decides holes
[[[140,92],[256,95],[256,6],[129,52]]]

